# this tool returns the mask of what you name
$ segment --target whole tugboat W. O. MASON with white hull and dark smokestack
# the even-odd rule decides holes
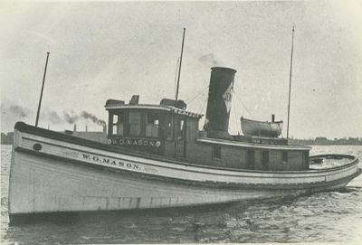
[[[181,61],[182,52],[178,81]],[[17,122],[10,166],[10,221],[34,213],[154,209],[295,196],[338,190],[360,174],[353,155],[310,156],[310,146],[291,145],[288,137],[279,134],[229,134],[235,72],[226,67],[211,69],[203,130],[199,122],[204,115],[186,110],[186,103],[177,99],[178,82],[176,99],[162,99],[157,105],[139,104],[138,95],[128,104],[108,99],[108,144],[37,127],[38,116],[35,127]],[[41,99],[42,95],[43,88]],[[344,164],[313,168],[311,163],[323,158]]]

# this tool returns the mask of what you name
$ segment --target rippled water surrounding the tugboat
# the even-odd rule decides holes
[[[312,154],[348,153],[362,146],[314,146]],[[1,241],[20,244],[324,242],[362,239],[362,175],[343,192],[197,209],[78,213],[9,226],[11,146],[1,146]]]

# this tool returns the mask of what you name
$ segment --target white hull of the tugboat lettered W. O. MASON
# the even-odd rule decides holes
[[[239,171],[115,153],[15,130],[9,213],[178,207],[341,188],[345,167],[298,172]],[[35,151],[34,144],[42,149]]]

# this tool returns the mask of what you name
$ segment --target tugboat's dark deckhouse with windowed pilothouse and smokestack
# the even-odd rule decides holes
[[[203,115],[187,111],[182,100],[162,99],[159,105],[148,105],[138,104],[138,99],[129,104],[109,99],[105,106],[108,144],[195,165],[261,171],[309,169],[309,146],[228,133],[234,72],[213,69],[203,130],[199,130]]]

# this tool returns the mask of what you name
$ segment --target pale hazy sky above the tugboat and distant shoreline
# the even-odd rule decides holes
[[[230,132],[240,117],[284,121],[290,136],[362,137],[362,2],[0,3],[1,131],[101,130],[107,99],[175,98],[205,114],[210,68],[235,69]],[[83,117],[89,115],[89,117]],[[201,122],[201,125],[203,121]]]

